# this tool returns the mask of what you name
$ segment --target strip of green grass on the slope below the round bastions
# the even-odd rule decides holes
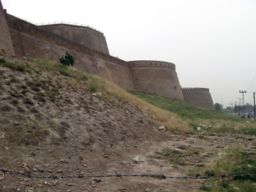
[[[203,118],[207,120],[222,119],[232,120],[236,122],[244,121],[241,120],[239,116],[227,115],[215,109],[200,108],[198,106],[195,106],[194,104],[186,102],[185,100],[170,99],[168,97],[156,95],[153,93],[135,91],[128,92],[136,95],[136,97],[139,97],[150,104],[153,104],[154,106],[177,113],[182,118],[189,118],[192,120],[195,120],[196,118]]]

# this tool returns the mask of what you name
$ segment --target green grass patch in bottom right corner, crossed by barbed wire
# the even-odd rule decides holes
[[[254,153],[252,153],[255,156]],[[230,146],[225,150],[223,156],[216,159],[216,163],[211,169],[205,172],[206,176],[214,175],[246,175],[256,174],[255,158],[245,158],[251,153],[242,152],[238,146]],[[212,179],[211,186],[207,187],[210,191],[255,191],[255,186],[252,185],[256,181],[256,177],[251,176],[236,176],[234,178],[225,178],[225,182],[221,178]],[[202,186],[204,187],[204,186]],[[203,188],[201,188],[204,190]]]

